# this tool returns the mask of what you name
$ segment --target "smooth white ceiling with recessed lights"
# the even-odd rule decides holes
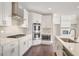
[[[23,7],[42,13],[79,14],[79,2],[22,2]],[[48,10],[52,8],[52,10]]]

